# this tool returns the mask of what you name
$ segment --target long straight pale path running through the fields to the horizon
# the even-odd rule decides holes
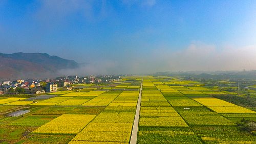
[[[135,117],[134,117],[133,130],[132,130],[132,136],[131,136],[130,144],[136,144],[137,143],[139,118],[140,118],[140,103],[141,103],[142,85],[143,85],[143,79],[141,80],[139,99],[138,99],[138,102],[137,102],[137,108],[136,108],[136,113],[135,113]]]

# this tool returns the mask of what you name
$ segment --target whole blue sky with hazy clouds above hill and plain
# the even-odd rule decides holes
[[[1,53],[57,55],[87,73],[256,69],[255,39],[256,1],[0,2]]]

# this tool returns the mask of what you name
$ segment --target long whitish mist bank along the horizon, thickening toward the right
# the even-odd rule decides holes
[[[134,55],[94,60],[77,69],[59,70],[60,75],[153,74],[157,71],[217,71],[256,69],[256,46],[217,48],[201,42],[186,49],[171,50],[159,46]]]

